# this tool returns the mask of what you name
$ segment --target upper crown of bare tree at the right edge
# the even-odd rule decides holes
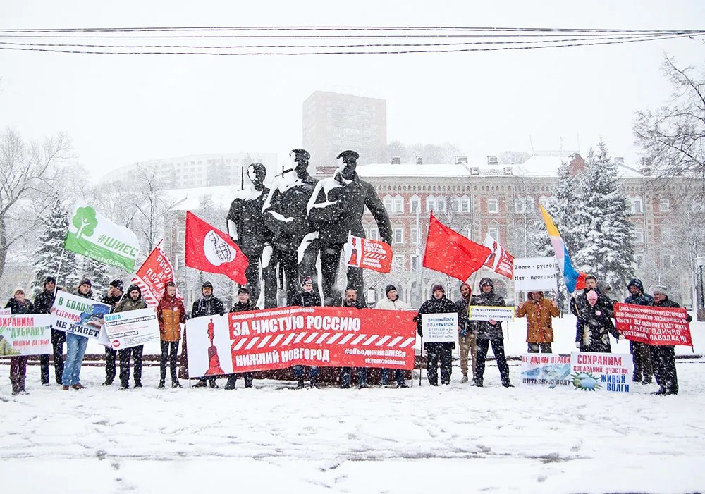
[[[662,70],[673,93],[658,110],[637,113],[637,145],[658,175],[696,176],[705,188],[705,73],[678,68],[668,56]]]

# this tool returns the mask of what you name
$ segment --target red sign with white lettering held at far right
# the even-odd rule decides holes
[[[615,304],[617,331],[627,340],[648,345],[692,347],[687,316],[687,311],[682,308]]]

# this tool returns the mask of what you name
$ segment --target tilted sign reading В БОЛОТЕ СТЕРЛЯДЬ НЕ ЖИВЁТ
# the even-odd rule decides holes
[[[102,319],[109,312],[108,304],[58,290],[51,306],[51,315],[54,316],[51,326],[66,333],[97,339]]]

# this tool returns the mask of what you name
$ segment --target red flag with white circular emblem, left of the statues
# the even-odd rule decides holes
[[[245,285],[247,257],[235,242],[214,226],[186,211],[184,261],[190,268],[224,274],[235,283]]]

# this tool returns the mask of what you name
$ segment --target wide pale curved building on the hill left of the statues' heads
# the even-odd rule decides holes
[[[188,189],[191,187],[212,187],[215,185],[239,186],[247,179],[247,166],[250,163],[262,163],[267,169],[268,181],[274,178],[277,169],[278,155],[276,153],[224,153],[196,154],[178,156],[176,158],[154,159],[126,165],[112,171],[103,179],[103,183],[111,183],[130,176],[138,168],[154,169],[157,176],[164,180],[170,189]]]

